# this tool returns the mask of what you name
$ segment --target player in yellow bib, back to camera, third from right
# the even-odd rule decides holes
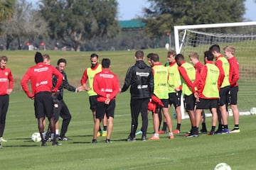
[[[217,107],[220,91],[220,71],[213,64],[213,54],[209,51],[204,52],[205,65],[201,69],[201,74],[196,77],[200,81],[196,86],[196,128],[198,130],[201,123],[201,114],[203,109],[210,109],[212,113],[212,128],[208,135],[215,134],[215,127],[218,121]]]

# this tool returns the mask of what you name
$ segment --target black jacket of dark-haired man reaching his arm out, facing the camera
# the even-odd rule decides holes
[[[68,91],[73,91],[75,92],[75,87],[71,86],[68,83],[68,79],[67,79],[67,74],[65,74],[65,72],[61,72],[61,74],[63,74],[63,82],[60,86],[60,88],[57,91],[57,94],[53,97],[53,99],[58,99],[59,101],[63,100],[63,90],[67,89]],[[56,86],[57,83],[57,77],[53,76],[53,88]]]

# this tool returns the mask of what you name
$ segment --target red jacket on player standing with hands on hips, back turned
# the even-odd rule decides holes
[[[53,89],[53,75],[57,77],[58,81]],[[31,81],[32,94],[28,89],[28,81]],[[55,67],[39,62],[33,67],[30,67],[21,80],[23,91],[29,98],[33,98],[41,91],[58,91],[63,81],[63,75],[55,69]]]

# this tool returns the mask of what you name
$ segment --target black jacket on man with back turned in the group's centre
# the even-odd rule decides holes
[[[129,86],[131,98],[151,98],[154,91],[154,76],[151,67],[143,60],[129,67],[121,91],[126,91]]]

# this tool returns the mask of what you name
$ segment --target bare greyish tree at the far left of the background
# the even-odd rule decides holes
[[[18,49],[21,50],[21,38],[33,40],[42,38],[47,33],[47,23],[32,8],[26,0],[17,0],[14,5],[14,14],[11,19],[2,23],[1,30],[6,37],[6,49],[17,39]]]

